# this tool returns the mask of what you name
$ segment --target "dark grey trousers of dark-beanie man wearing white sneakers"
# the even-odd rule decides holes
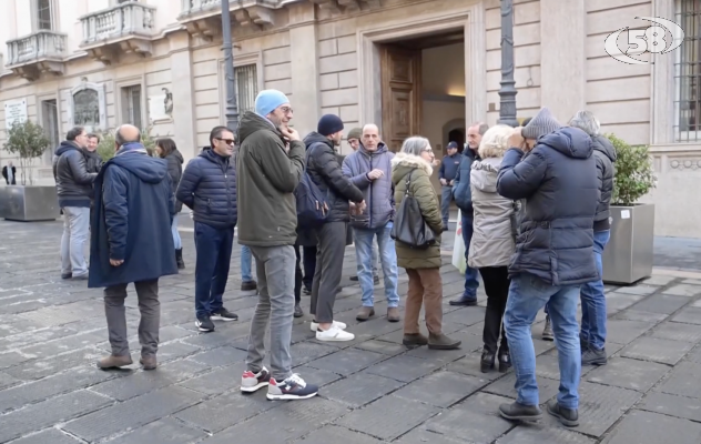
[[[334,321],[336,289],[343,274],[343,255],[346,251],[346,222],[327,222],[316,230],[316,271],[312,283],[309,313],[318,323]]]

